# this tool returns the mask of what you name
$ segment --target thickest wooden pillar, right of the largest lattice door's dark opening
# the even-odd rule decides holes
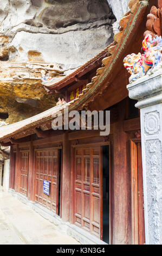
[[[128,166],[127,134],[123,130],[125,102],[118,107],[119,120],[114,123],[113,170],[113,245],[131,243],[131,174]]]

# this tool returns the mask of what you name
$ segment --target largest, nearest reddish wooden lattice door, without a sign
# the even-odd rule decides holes
[[[102,239],[101,147],[75,149],[74,223]]]

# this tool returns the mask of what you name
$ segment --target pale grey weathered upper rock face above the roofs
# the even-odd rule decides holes
[[[27,62],[35,51],[44,62],[75,69],[112,41],[114,16],[107,0],[2,2],[0,33],[9,36],[8,46],[15,49],[9,52],[11,61]]]

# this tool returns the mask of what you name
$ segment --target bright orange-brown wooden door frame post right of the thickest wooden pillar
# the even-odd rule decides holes
[[[141,138],[131,139],[131,219],[132,244],[139,245],[139,209],[138,209],[138,148]]]

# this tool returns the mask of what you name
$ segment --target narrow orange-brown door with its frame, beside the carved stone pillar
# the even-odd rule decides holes
[[[145,221],[141,142],[132,141],[131,144],[132,243],[143,245],[145,243]]]

